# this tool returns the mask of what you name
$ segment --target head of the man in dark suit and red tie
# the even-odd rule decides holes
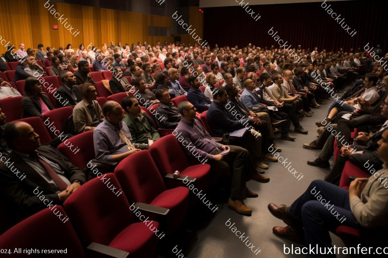
[[[8,147],[21,153],[32,153],[40,146],[39,135],[26,122],[12,122],[6,125],[4,139]]]

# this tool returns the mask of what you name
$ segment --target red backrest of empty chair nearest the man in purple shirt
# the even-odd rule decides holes
[[[150,153],[162,176],[172,174],[175,170],[183,171],[188,161],[174,135],[168,135],[154,142]]]

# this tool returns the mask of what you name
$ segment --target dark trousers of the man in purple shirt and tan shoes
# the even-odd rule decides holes
[[[241,147],[228,145],[230,152],[223,160],[212,160],[210,165],[216,169],[229,169],[232,174],[230,198],[244,200],[247,197],[246,182],[251,173],[256,173],[251,155]]]

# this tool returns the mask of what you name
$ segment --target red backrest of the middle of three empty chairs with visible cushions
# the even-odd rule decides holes
[[[129,170],[128,167],[131,169]],[[122,160],[115,169],[115,175],[130,203],[150,204],[166,190],[162,176],[147,150],[137,152]]]

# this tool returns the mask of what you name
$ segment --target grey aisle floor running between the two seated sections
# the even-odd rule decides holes
[[[326,100],[326,104],[321,105],[320,109],[313,109],[315,113],[312,117],[303,118],[301,124],[309,131],[308,135],[290,132],[291,135],[297,137],[295,142],[276,140],[276,144],[282,148],[280,155],[284,159],[287,158],[286,162],[291,162],[288,169],[295,172],[292,170],[294,168],[298,172],[295,175],[303,174],[303,178],[299,176],[297,179],[281,162],[266,162],[270,167],[266,170],[265,175],[269,176],[271,181],[262,184],[251,180],[247,183],[252,191],[259,194],[258,198],[246,200],[247,206],[253,209],[252,216],[239,215],[229,210],[227,204],[217,204],[219,206],[217,215],[205,229],[198,233],[198,241],[193,244],[187,258],[305,257],[304,255],[283,254],[283,244],[290,247],[293,242],[278,238],[272,233],[273,226],[285,226],[285,224],[269,213],[267,205],[275,203],[289,206],[306,190],[311,181],[323,179],[329,172],[329,169],[307,165],[307,160],[314,160],[319,150],[304,149],[302,144],[316,139],[315,121],[325,117],[330,102],[331,100]],[[293,125],[291,128],[294,130]],[[333,159],[330,160],[330,163],[333,164]],[[246,236],[249,236],[246,243],[249,247],[252,246],[250,243],[255,245],[253,250],[231,231],[233,227],[229,229],[225,225],[225,223],[231,225],[227,222],[229,219],[231,223],[235,223],[234,226],[241,231],[241,234],[245,232],[244,240]],[[332,236],[332,239],[333,244],[344,246],[341,239],[336,236]],[[256,251],[257,248],[261,250],[260,253]],[[337,255],[337,257],[347,256]]]

